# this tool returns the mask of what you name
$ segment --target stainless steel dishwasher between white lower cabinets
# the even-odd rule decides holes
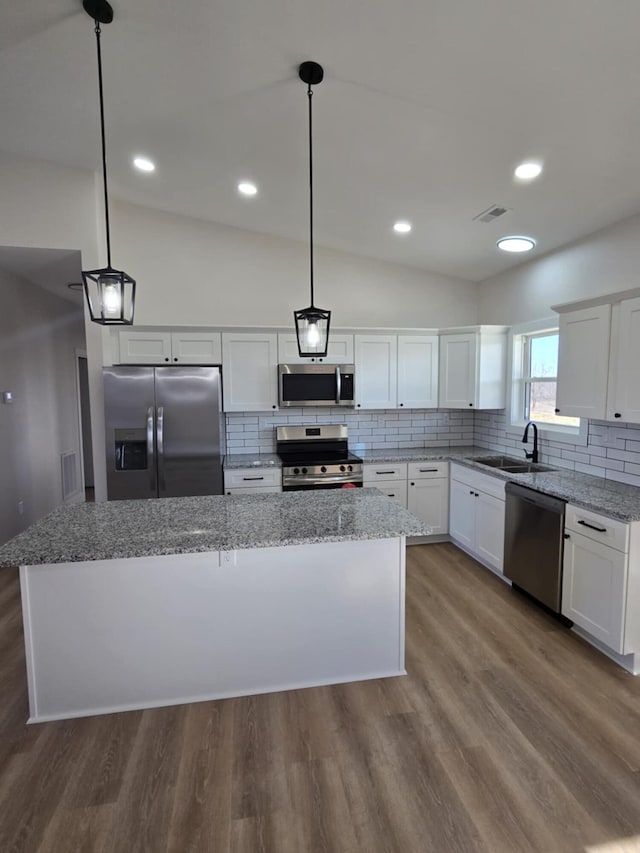
[[[515,483],[505,495],[504,574],[560,613],[566,501]]]

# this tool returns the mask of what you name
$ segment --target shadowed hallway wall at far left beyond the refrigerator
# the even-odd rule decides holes
[[[75,350],[82,312],[0,270],[0,542],[62,503],[60,454],[80,465]],[[83,498],[78,467],[78,498]],[[24,513],[18,511],[22,501]]]

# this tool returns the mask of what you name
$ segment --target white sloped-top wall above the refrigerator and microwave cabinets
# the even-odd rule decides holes
[[[309,302],[306,243],[114,203],[114,262],[138,325],[290,326]],[[475,324],[477,285],[317,248],[316,303],[335,326]]]

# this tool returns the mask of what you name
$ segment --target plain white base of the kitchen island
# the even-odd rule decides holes
[[[22,566],[29,722],[403,675],[405,537]]]

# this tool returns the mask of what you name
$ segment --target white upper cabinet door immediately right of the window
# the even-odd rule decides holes
[[[604,418],[611,306],[560,315],[556,410],[574,418]]]

